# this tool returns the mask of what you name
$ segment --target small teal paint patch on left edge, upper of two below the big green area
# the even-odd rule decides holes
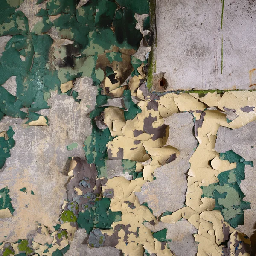
[[[0,137],[0,169],[3,168],[6,159],[11,156],[10,149],[15,145],[13,139],[14,134],[15,132],[12,130],[12,127],[9,126],[9,129],[7,130],[8,140],[5,140],[5,137]]]

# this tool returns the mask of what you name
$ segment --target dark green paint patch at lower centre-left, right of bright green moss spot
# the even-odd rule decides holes
[[[95,202],[92,208],[85,212],[79,212],[78,226],[84,228],[89,234],[94,227],[99,229],[111,229],[111,224],[121,220],[121,212],[112,212],[109,209],[110,199],[102,198]]]

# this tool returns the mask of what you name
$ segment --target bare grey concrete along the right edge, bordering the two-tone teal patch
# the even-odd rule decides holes
[[[236,154],[247,161],[253,161],[256,167],[256,122],[251,122],[237,130],[221,127],[218,130],[215,149],[225,152],[232,149]],[[253,148],[252,148],[253,146]],[[256,253],[256,168],[245,166],[245,180],[241,181],[241,189],[246,195],[244,201],[251,203],[251,209],[244,210],[244,226],[238,226],[238,230],[247,234],[252,240],[252,255]]]

